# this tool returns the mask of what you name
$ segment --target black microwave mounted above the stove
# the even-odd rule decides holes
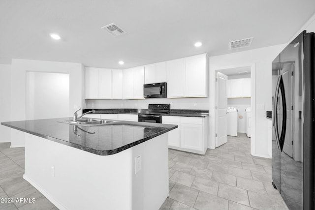
[[[166,98],[167,97],[167,84],[166,83],[154,83],[143,85],[143,97],[144,98]]]

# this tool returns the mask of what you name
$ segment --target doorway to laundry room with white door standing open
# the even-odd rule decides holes
[[[242,138],[250,142],[250,150],[254,154],[254,65],[217,69],[215,74],[216,147],[225,144],[228,139]],[[226,76],[225,86],[221,84],[222,75]],[[226,108],[220,104],[223,99],[226,100]],[[226,135],[225,141],[222,141],[223,135]]]

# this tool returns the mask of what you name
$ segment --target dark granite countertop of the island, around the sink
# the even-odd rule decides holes
[[[1,124],[98,155],[118,153],[178,127],[132,121],[86,127],[59,122],[63,120],[72,118],[11,121]]]

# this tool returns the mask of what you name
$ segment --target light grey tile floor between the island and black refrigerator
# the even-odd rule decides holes
[[[286,210],[271,159],[252,156],[239,133],[205,155],[169,150],[169,197],[160,210]]]

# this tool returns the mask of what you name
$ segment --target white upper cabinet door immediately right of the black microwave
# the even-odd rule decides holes
[[[185,65],[184,59],[166,62],[167,97],[176,98],[185,96]]]

